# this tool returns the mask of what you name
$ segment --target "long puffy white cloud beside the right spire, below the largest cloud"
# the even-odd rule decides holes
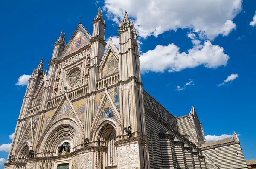
[[[229,56],[224,54],[224,49],[218,45],[212,45],[209,40],[203,45],[194,44],[188,53],[180,53],[179,47],[172,43],[167,46],[157,45],[154,50],[141,54],[140,68],[142,73],[164,72],[165,70],[175,72],[199,65],[204,65],[206,68],[218,68],[227,65],[228,59]]]

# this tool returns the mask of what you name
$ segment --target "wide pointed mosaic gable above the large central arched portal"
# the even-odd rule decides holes
[[[76,114],[76,110],[74,109],[73,105],[68,99],[67,93],[64,94],[64,97],[61,100],[60,104],[58,105],[55,113],[51,115],[48,124],[46,125],[46,127],[44,127],[45,129],[44,129],[43,135],[47,132],[47,130],[49,130],[52,124],[54,124],[55,122],[63,118],[76,119],[76,121],[78,121],[78,123],[80,124],[80,127],[83,129],[83,124],[79,120],[79,116]],[[41,136],[40,140],[43,138],[43,135]]]

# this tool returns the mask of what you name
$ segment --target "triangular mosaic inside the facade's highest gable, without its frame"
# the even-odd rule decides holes
[[[80,48],[84,47],[87,44],[88,44],[88,42],[86,40],[86,37],[79,30],[76,33],[76,36],[74,37],[73,41],[70,43],[70,46],[67,48],[67,52],[65,53],[64,57],[79,50]]]

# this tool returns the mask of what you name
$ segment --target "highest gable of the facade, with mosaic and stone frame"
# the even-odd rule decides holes
[[[76,31],[73,33],[72,37],[67,43],[67,46],[64,48],[61,58],[64,58],[65,56],[72,54],[73,52],[76,52],[82,47],[90,44],[90,39],[90,34],[81,24],[79,24]]]

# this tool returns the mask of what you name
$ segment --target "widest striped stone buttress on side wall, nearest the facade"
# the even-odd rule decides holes
[[[164,169],[176,169],[175,166],[175,158],[174,157],[174,148],[173,148],[173,140],[174,136],[169,133],[161,133],[159,134],[161,153],[162,153],[162,161]]]

